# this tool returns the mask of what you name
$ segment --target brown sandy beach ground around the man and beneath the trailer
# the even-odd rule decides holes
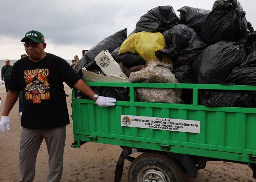
[[[71,110],[71,92],[72,90],[64,84],[67,98],[69,115]],[[3,111],[6,92],[4,84],[0,85],[0,96]],[[19,174],[19,141],[20,141],[20,115],[18,112],[18,102],[10,112],[10,130],[6,135],[0,133],[0,182],[17,182],[20,179]],[[80,148],[72,148],[73,126],[72,118],[67,126],[67,137],[64,151],[64,169],[63,182],[101,182],[114,181],[114,171],[116,162],[121,153],[119,146],[106,145],[100,143],[86,143]],[[139,154],[133,154],[137,156]],[[125,160],[122,182],[127,182],[127,173],[130,162]],[[34,182],[45,182],[48,175],[48,153],[45,142],[43,141],[39,149],[36,174]],[[207,162],[206,168],[198,171],[197,178],[191,178],[187,174],[188,182],[256,182],[252,178],[252,170],[247,165],[241,165],[231,162]]]

